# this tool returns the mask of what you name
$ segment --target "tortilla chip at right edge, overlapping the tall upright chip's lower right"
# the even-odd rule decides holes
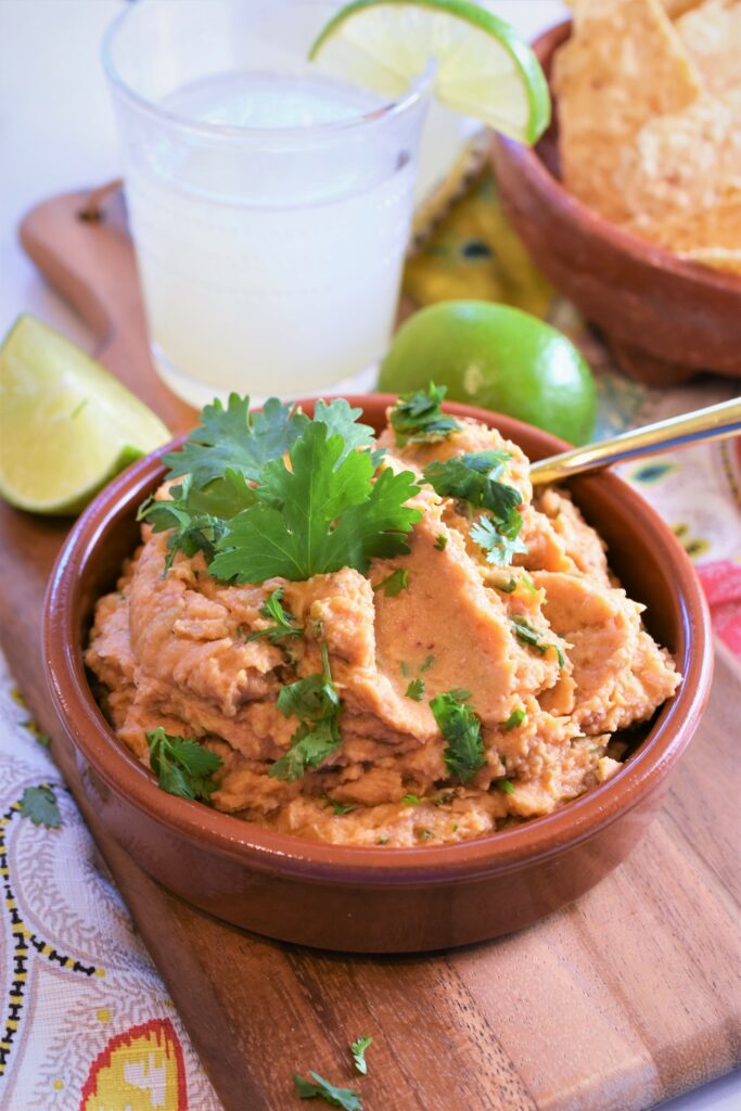
[[[639,228],[733,203],[741,194],[741,86],[647,123],[622,152],[617,180]]]

